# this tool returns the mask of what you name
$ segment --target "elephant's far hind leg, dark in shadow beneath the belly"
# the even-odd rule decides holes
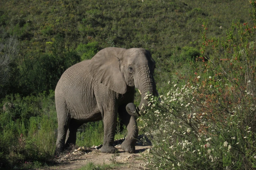
[[[75,120],[70,120],[69,128],[66,135],[66,142],[65,142],[65,148],[68,148],[70,145],[76,145],[77,140],[77,129],[82,125],[83,123],[78,123]]]

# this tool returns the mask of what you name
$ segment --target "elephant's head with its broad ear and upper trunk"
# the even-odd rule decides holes
[[[129,89],[137,88],[141,93],[140,110],[143,104],[147,106],[147,93],[158,96],[154,68],[155,61],[150,52],[141,48],[106,48],[100,50],[89,65],[91,76],[115,92],[125,94]]]

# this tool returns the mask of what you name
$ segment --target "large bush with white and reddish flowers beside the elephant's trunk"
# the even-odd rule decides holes
[[[232,24],[227,36],[207,38],[202,25],[198,58],[203,71],[170,83],[161,102],[150,100],[139,118],[153,144],[151,169],[256,168],[255,28]]]

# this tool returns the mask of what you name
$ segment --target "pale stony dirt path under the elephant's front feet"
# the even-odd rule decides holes
[[[145,165],[145,160],[142,155],[147,154],[151,146],[145,146],[138,143],[138,145],[135,146],[135,153],[132,154],[123,151],[119,142],[115,147],[119,151],[117,154],[101,153],[99,149],[95,149],[97,147],[84,148],[76,152],[73,150],[73,153],[70,152],[66,155],[53,159],[52,165],[48,167],[41,167],[40,170],[78,169],[90,162],[93,162],[95,165],[103,165],[104,163],[116,164],[114,168],[111,168],[114,170],[144,169],[143,165]]]

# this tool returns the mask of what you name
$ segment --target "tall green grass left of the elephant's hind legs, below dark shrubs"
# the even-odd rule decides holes
[[[55,151],[57,114],[54,91],[49,95],[8,95],[13,108],[0,111],[0,167],[39,168]]]

